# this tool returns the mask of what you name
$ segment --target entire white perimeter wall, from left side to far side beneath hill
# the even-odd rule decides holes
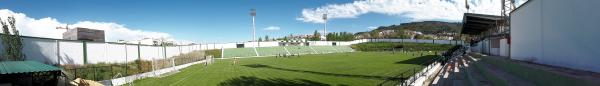
[[[46,64],[85,64],[84,49],[87,51],[87,63],[123,63],[138,59],[153,60],[166,59],[194,50],[228,49],[237,48],[238,43],[202,44],[185,46],[150,46],[137,44],[120,44],[107,42],[84,42],[60,39],[47,39],[36,37],[23,38],[23,54],[26,60],[38,61]],[[418,42],[434,43],[433,40],[416,39],[359,39],[354,41],[309,41],[311,46],[352,45],[363,42]],[[453,43],[448,40],[435,40],[435,43]],[[255,42],[247,42],[246,47],[251,47]],[[258,43],[256,43],[258,44]],[[258,47],[279,46],[279,42],[260,42]],[[139,47],[139,49],[138,49]],[[0,54],[4,53],[0,45]],[[138,56],[139,53],[139,56]]]

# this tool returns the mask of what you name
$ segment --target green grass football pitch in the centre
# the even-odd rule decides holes
[[[415,53],[415,52],[413,52]],[[297,57],[215,60],[193,65],[165,77],[137,80],[138,86],[373,86],[398,79],[433,55],[392,52],[351,52]],[[409,77],[412,74],[404,74]],[[398,81],[398,80],[396,80]]]

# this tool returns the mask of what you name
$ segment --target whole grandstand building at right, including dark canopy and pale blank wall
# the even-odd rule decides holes
[[[556,67],[600,72],[600,0],[529,0],[499,16],[466,13],[462,34],[477,37],[471,50]]]

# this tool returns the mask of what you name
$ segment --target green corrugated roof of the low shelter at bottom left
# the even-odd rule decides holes
[[[60,71],[60,68],[35,61],[0,61],[0,74]]]

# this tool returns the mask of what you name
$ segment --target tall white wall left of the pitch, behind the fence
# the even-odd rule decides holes
[[[25,60],[60,65],[123,63],[138,59],[165,59],[201,49],[201,45],[151,46],[111,42],[83,42],[27,36],[21,38],[23,40],[23,55]],[[140,53],[139,56],[138,52]],[[2,45],[0,45],[0,54],[4,54],[4,47]]]

